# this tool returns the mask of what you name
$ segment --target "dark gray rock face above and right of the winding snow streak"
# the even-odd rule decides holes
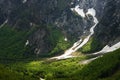
[[[77,2],[86,12],[95,8],[99,24],[95,29],[95,37],[103,45],[113,45],[120,41],[120,1],[119,0],[80,0]]]

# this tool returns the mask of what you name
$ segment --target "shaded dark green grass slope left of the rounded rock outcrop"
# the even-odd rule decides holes
[[[0,58],[24,58],[26,50],[25,43],[30,31],[18,31],[9,26],[0,29]],[[29,54],[28,54],[29,56]]]

